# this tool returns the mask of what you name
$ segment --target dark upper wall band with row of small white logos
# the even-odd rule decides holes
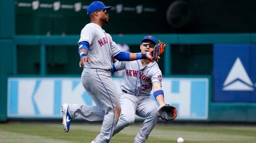
[[[90,22],[88,0],[16,0],[16,35],[77,35]],[[253,0],[102,0],[110,34],[255,33]],[[171,23],[168,21],[172,21]]]

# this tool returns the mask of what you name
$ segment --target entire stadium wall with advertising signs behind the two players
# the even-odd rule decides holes
[[[61,120],[63,103],[93,105],[77,54],[91,2],[0,0],[0,122]],[[103,29],[116,43],[167,43],[159,66],[174,122],[256,123],[256,1],[102,2],[113,6]]]

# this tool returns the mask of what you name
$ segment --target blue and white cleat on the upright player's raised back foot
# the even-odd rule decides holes
[[[62,124],[64,127],[64,132],[68,132],[72,118],[68,113],[68,104],[65,103],[61,107],[62,107],[62,117],[63,117]]]

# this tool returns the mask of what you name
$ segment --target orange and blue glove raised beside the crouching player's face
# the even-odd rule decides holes
[[[160,59],[160,55],[162,55],[165,51],[166,44],[164,42],[161,42],[158,39],[159,43],[155,45],[155,48],[150,51],[150,55],[152,57],[152,62],[158,61]]]

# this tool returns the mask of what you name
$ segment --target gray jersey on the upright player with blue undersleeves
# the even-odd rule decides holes
[[[90,45],[87,56],[91,60],[91,64],[85,62],[86,68],[112,69],[112,58],[121,50],[108,33],[99,25],[89,23],[81,31],[78,43],[82,41],[86,41]]]

